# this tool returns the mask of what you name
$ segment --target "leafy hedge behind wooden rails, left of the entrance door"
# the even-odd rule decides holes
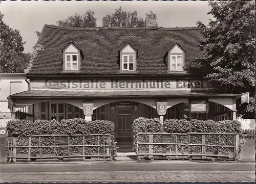
[[[57,120],[14,120],[7,123],[8,137],[17,137],[17,145],[28,145],[30,135],[75,135],[75,134],[111,134],[111,154],[116,153],[116,143],[114,140],[115,125],[111,121],[95,120],[86,121],[82,118]],[[105,137],[105,140],[107,138]],[[54,145],[54,137],[41,137],[41,145]],[[85,144],[98,144],[97,136],[85,137]],[[103,144],[103,136],[100,136],[100,144]],[[31,145],[39,145],[38,138],[31,139]],[[70,145],[82,145],[82,136],[70,137]],[[98,152],[97,147],[85,147],[86,154],[90,155]],[[70,152],[82,154],[82,147],[70,147]],[[106,150],[106,149],[105,149]],[[27,154],[27,148],[17,148],[17,153]],[[55,154],[54,148],[41,148],[42,154]],[[103,153],[103,147],[100,147],[100,153]],[[31,156],[39,154],[39,148],[31,148]],[[68,148],[57,148],[58,155],[68,155]]]

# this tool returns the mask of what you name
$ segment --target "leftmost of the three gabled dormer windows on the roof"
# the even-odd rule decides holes
[[[63,52],[63,72],[77,72],[81,65],[82,52],[73,42],[70,42]]]

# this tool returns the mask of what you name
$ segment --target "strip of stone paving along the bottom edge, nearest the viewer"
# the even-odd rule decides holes
[[[1,173],[1,182],[255,181],[254,171],[88,171]]]

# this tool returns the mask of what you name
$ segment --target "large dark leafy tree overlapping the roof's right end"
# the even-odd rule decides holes
[[[206,59],[201,64],[210,69],[207,80],[214,83],[221,93],[250,92],[249,105],[239,108],[238,114],[255,110],[255,2],[209,2],[208,27],[197,22],[205,41],[200,48]]]

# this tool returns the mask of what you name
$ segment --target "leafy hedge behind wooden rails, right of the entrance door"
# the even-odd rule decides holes
[[[153,123],[151,126],[148,125],[150,122],[157,122]],[[134,142],[134,151],[136,151],[136,134],[137,133],[233,133],[239,134],[240,139],[242,138],[242,128],[241,123],[236,120],[223,120],[223,121],[213,121],[213,120],[185,120],[185,119],[167,119],[164,121],[163,125],[160,123],[159,118],[155,119],[146,119],[146,118],[138,118],[134,121],[133,124],[133,133],[135,136]],[[153,142],[160,143],[161,136],[154,135]],[[148,142],[147,135],[140,135],[138,136],[139,142]],[[174,138],[174,141],[176,138]],[[188,135],[178,135],[177,136],[177,143],[188,143]],[[202,144],[202,135],[190,135],[189,137],[190,144]],[[205,135],[205,144],[208,145],[218,145],[219,143],[219,135]],[[220,136],[220,145],[222,146],[234,146],[234,136],[230,135],[221,135]],[[201,146],[190,146],[189,152],[190,153],[198,153],[201,152]],[[241,150],[241,144],[240,144]],[[143,153],[148,151],[148,145],[139,145],[138,152]],[[175,151],[175,145],[153,145],[153,153],[167,153],[169,151]],[[178,151],[184,153],[188,151],[187,145],[178,145]],[[212,152],[214,154],[218,153],[218,147],[214,146],[206,146],[207,152]],[[233,148],[223,148],[220,147],[221,154],[228,154],[230,152],[234,152]]]

